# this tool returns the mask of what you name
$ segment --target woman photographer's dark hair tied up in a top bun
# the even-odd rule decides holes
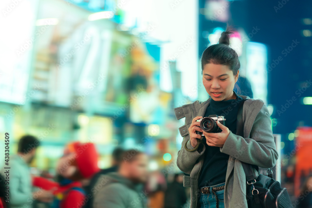
[[[229,46],[230,34],[232,33],[234,33],[234,30],[230,26],[227,26],[227,29],[221,33],[219,43],[205,49],[201,58],[202,70],[206,64],[222,64],[227,65],[232,70],[234,76],[237,74],[241,64],[236,51]]]

